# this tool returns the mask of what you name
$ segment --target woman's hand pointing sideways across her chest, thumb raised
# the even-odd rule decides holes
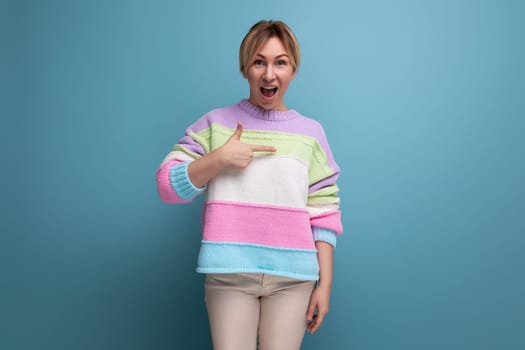
[[[251,145],[241,141],[243,126],[237,122],[237,130],[226,141],[226,143],[216,150],[217,156],[224,168],[246,168],[253,159],[254,152],[276,152],[277,149],[271,146]]]

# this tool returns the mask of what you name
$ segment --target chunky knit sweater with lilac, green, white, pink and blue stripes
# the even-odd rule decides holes
[[[243,170],[226,169],[196,188],[188,164],[241,141],[274,146]],[[213,110],[192,124],[157,171],[161,199],[187,203],[205,190],[197,272],[267,273],[317,280],[315,241],[333,246],[342,233],[334,161],[322,126],[295,110],[268,111],[248,100]]]

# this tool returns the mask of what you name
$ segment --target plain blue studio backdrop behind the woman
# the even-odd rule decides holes
[[[342,168],[331,312],[303,349],[525,348],[521,1],[2,2],[1,349],[210,349],[202,199],[155,172],[248,96],[259,19]]]

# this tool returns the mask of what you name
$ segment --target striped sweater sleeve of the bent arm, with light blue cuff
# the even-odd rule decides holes
[[[206,186],[197,188],[188,176],[188,165],[209,152],[208,128],[199,120],[164,158],[157,170],[157,190],[166,203],[189,203]]]

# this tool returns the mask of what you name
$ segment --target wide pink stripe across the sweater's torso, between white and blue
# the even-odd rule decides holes
[[[222,201],[208,202],[204,210],[204,240],[315,249],[305,210]]]

